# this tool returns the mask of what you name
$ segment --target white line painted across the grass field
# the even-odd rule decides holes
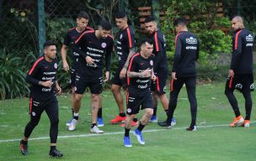
[[[255,123],[255,122],[251,122]],[[211,127],[228,127],[229,124],[220,124],[220,125],[206,125],[206,126],[196,126],[197,128],[211,128]],[[187,127],[173,127],[172,130],[183,130]],[[143,132],[160,132],[170,130],[168,128],[163,129],[152,129],[152,130],[143,130]],[[59,138],[87,138],[87,137],[95,137],[95,136],[104,136],[104,135],[117,135],[117,134],[124,134],[124,132],[104,132],[101,134],[96,133],[89,133],[89,134],[80,134],[80,135],[63,135],[58,136]],[[18,142],[21,138],[14,138],[14,139],[7,139],[7,140],[0,140],[0,143],[8,143],[8,142]],[[29,138],[29,140],[45,140],[50,139],[50,137],[39,137],[39,138]]]

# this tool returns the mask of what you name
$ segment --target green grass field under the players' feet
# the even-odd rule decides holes
[[[244,116],[243,97],[238,92],[236,96]],[[60,123],[57,148],[64,153],[61,160],[254,161],[256,158],[255,105],[251,127],[228,127],[234,114],[224,95],[223,83],[197,86],[198,131],[184,130],[190,122],[189,101],[184,88],[179,95],[179,103],[174,113],[177,125],[173,129],[164,129],[156,123],[149,123],[144,132],[146,145],[137,143],[131,134],[132,148],[123,146],[123,127],[109,123],[117,114],[114,97],[109,91],[104,91],[102,97],[105,124],[102,129],[105,133],[95,135],[88,132],[88,94],[83,98],[80,121],[75,132],[68,132],[66,127],[66,122],[71,116],[70,97],[59,96]],[[254,93],[252,97],[255,104]],[[29,122],[28,112],[28,98],[0,101],[0,160],[51,160],[48,157],[50,122],[45,113],[31,135],[29,155],[23,156],[19,152],[19,140],[23,137],[26,123]],[[158,106],[157,117],[161,121],[166,118],[161,106]]]

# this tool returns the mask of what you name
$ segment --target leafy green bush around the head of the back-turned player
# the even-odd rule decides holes
[[[220,29],[228,28],[230,21],[228,18],[217,17],[216,3],[170,0],[165,4],[167,13],[161,26],[166,35],[169,60],[173,60],[174,55],[175,30],[172,23],[179,17],[189,19],[189,31],[200,39],[200,65],[216,65],[215,60],[220,53],[230,53],[232,39]]]

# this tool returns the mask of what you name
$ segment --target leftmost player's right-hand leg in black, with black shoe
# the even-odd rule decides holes
[[[53,98],[51,101],[48,101],[47,106],[45,106],[45,112],[50,119],[50,139],[51,147],[49,155],[54,158],[61,158],[63,154],[56,149],[57,137],[58,137],[58,125],[59,125],[59,108],[58,101],[56,98]]]

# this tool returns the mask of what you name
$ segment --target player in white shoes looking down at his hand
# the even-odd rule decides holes
[[[104,132],[97,127],[97,112],[99,110],[99,97],[102,93],[103,60],[105,60],[106,68],[104,81],[109,80],[110,59],[114,44],[113,38],[109,35],[111,29],[111,24],[106,20],[102,20],[97,30],[83,32],[73,45],[73,49],[80,55],[81,59],[78,60],[74,118],[68,127],[69,131],[76,129],[83,92],[86,87],[89,87],[92,112],[90,132]]]

